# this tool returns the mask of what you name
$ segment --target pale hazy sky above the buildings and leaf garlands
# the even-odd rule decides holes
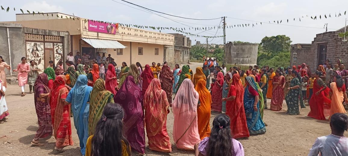
[[[186,18],[213,19],[226,16],[227,25],[254,24],[255,27],[234,27],[226,29],[226,42],[244,41],[260,43],[265,36],[286,35],[291,38],[292,44],[311,43],[316,36],[325,32],[324,25],[328,31],[335,31],[345,26],[343,13],[348,11],[347,0],[127,0],[137,5]],[[123,4],[122,4],[123,3]],[[124,5],[126,4],[126,5]],[[19,9],[44,12],[61,12],[64,14],[109,21],[112,23],[124,23],[155,27],[177,27],[185,28],[185,32],[204,36],[221,36],[222,29],[209,31],[191,31],[189,27],[213,27],[219,25],[221,19],[215,20],[192,20],[172,17],[164,14],[158,15],[148,13],[142,8],[128,4],[121,0],[0,0],[0,5],[10,11],[0,10],[0,21],[14,21],[15,14],[20,14]],[[128,6],[127,6],[128,5]],[[129,7],[131,6],[131,7]],[[133,8],[132,8],[133,7]],[[16,8],[16,11],[13,10]],[[341,12],[342,16],[335,17]],[[324,18],[324,15],[331,18]],[[322,19],[319,19],[319,15]],[[310,17],[317,16],[317,20]],[[171,18],[172,20],[168,19]],[[295,21],[294,21],[295,18]],[[299,18],[301,21],[299,21]],[[289,22],[287,23],[287,19]],[[174,21],[173,21],[174,20]],[[247,21],[251,20],[251,21]],[[282,20],[281,24],[274,24],[273,21]],[[262,22],[262,25],[255,21]],[[269,24],[269,21],[273,24]],[[222,25],[222,24],[220,24]],[[293,26],[287,26],[293,25]],[[314,27],[314,28],[308,28]],[[162,33],[177,33],[165,30]],[[216,35],[215,35],[216,34]],[[192,45],[196,41],[206,43],[206,38],[188,36]],[[208,43],[223,44],[223,38],[209,38]]]

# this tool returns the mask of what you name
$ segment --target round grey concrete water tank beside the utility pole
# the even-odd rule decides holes
[[[258,59],[257,43],[232,43],[226,44],[227,63],[229,64],[243,64],[255,65]]]

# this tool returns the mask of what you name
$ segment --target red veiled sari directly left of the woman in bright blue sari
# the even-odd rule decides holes
[[[250,135],[243,105],[244,87],[239,83],[238,74],[232,76],[232,84],[228,92],[228,97],[230,96],[236,97],[233,101],[227,101],[226,104],[226,115],[230,117],[232,137],[234,139],[248,138]]]

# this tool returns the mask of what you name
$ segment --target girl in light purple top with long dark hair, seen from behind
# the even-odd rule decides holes
[[[230,118],[217,115],[213,121],[210,137],[204,138],[195,156],[244,156],[243,145],[231,136]]]

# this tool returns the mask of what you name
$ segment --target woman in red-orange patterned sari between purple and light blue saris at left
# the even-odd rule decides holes
[[[54,138],[56,139],[55,150],[62,151],[65,146],[73,145],[71,137],[70,105],[64,105],[69,91],[65,87],[66,78],[58,75],[53,82],[50,92],[50,106]]]

